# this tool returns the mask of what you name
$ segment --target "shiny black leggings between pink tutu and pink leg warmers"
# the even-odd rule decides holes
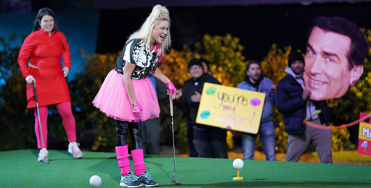
[[[130,132],[131,150],[142,149],[142,123],[116,120],[116,147],[126,145],[126,138]]]

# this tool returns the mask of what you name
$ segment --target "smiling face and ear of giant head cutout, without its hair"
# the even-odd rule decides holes
[[[309,98],[321,101],[342,97],[362,75],[363,66],[349,70],[348,36],[314,27],[308,39],[305,56],[304,83],[311,91]]]

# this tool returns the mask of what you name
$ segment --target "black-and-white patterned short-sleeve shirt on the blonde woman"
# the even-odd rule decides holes
[[[131,79],[140,80],[147,77],[148,73],[156,68],[158,57],[155,50],[150,52],[149,45],[145,45],[144,41],[132,39],[124,46],[121,57],[117,58],[115,71],[124,73],[125,61],[135,64]]]

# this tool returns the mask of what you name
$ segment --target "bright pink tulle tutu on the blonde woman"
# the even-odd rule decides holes
[[[141,80],[132,80],[132,83],[135,97],[143,108],[142,117],[137,118],[131,112],[131,103],[122,74],[114,69],[105,78],[93,100],[93,105],[115,120],[140,122],[158,118],[160,107],[151,80],[146,77]]]

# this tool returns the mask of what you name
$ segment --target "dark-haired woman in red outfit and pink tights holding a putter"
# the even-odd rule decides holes
[[[61,56],[64,67],[60,60]],[[31,60],[27,66],[30,57]],[[27,82],[27,108],[35,110],[35,133],[37,147],[40,149],[37,160],[42,161],[44,154],[48,160],[46,120],[47,105],[50,104],[56,104],[62,117],[63,127],[70,142],[68,151],[73,154],[74,158],[81,158],[83,154],[78,147],[79,144],[76,143],[76,123],[65,78],[71,68],[70,50],[66,36],[58,31],[57,20],[52,10],[43,8],[37,13],[32,33],[24,39],[19,52],[18,64]],[[43,141],[41,141],[33,83],[36,84]],[[45,148],[42,147],[43,145]]]

